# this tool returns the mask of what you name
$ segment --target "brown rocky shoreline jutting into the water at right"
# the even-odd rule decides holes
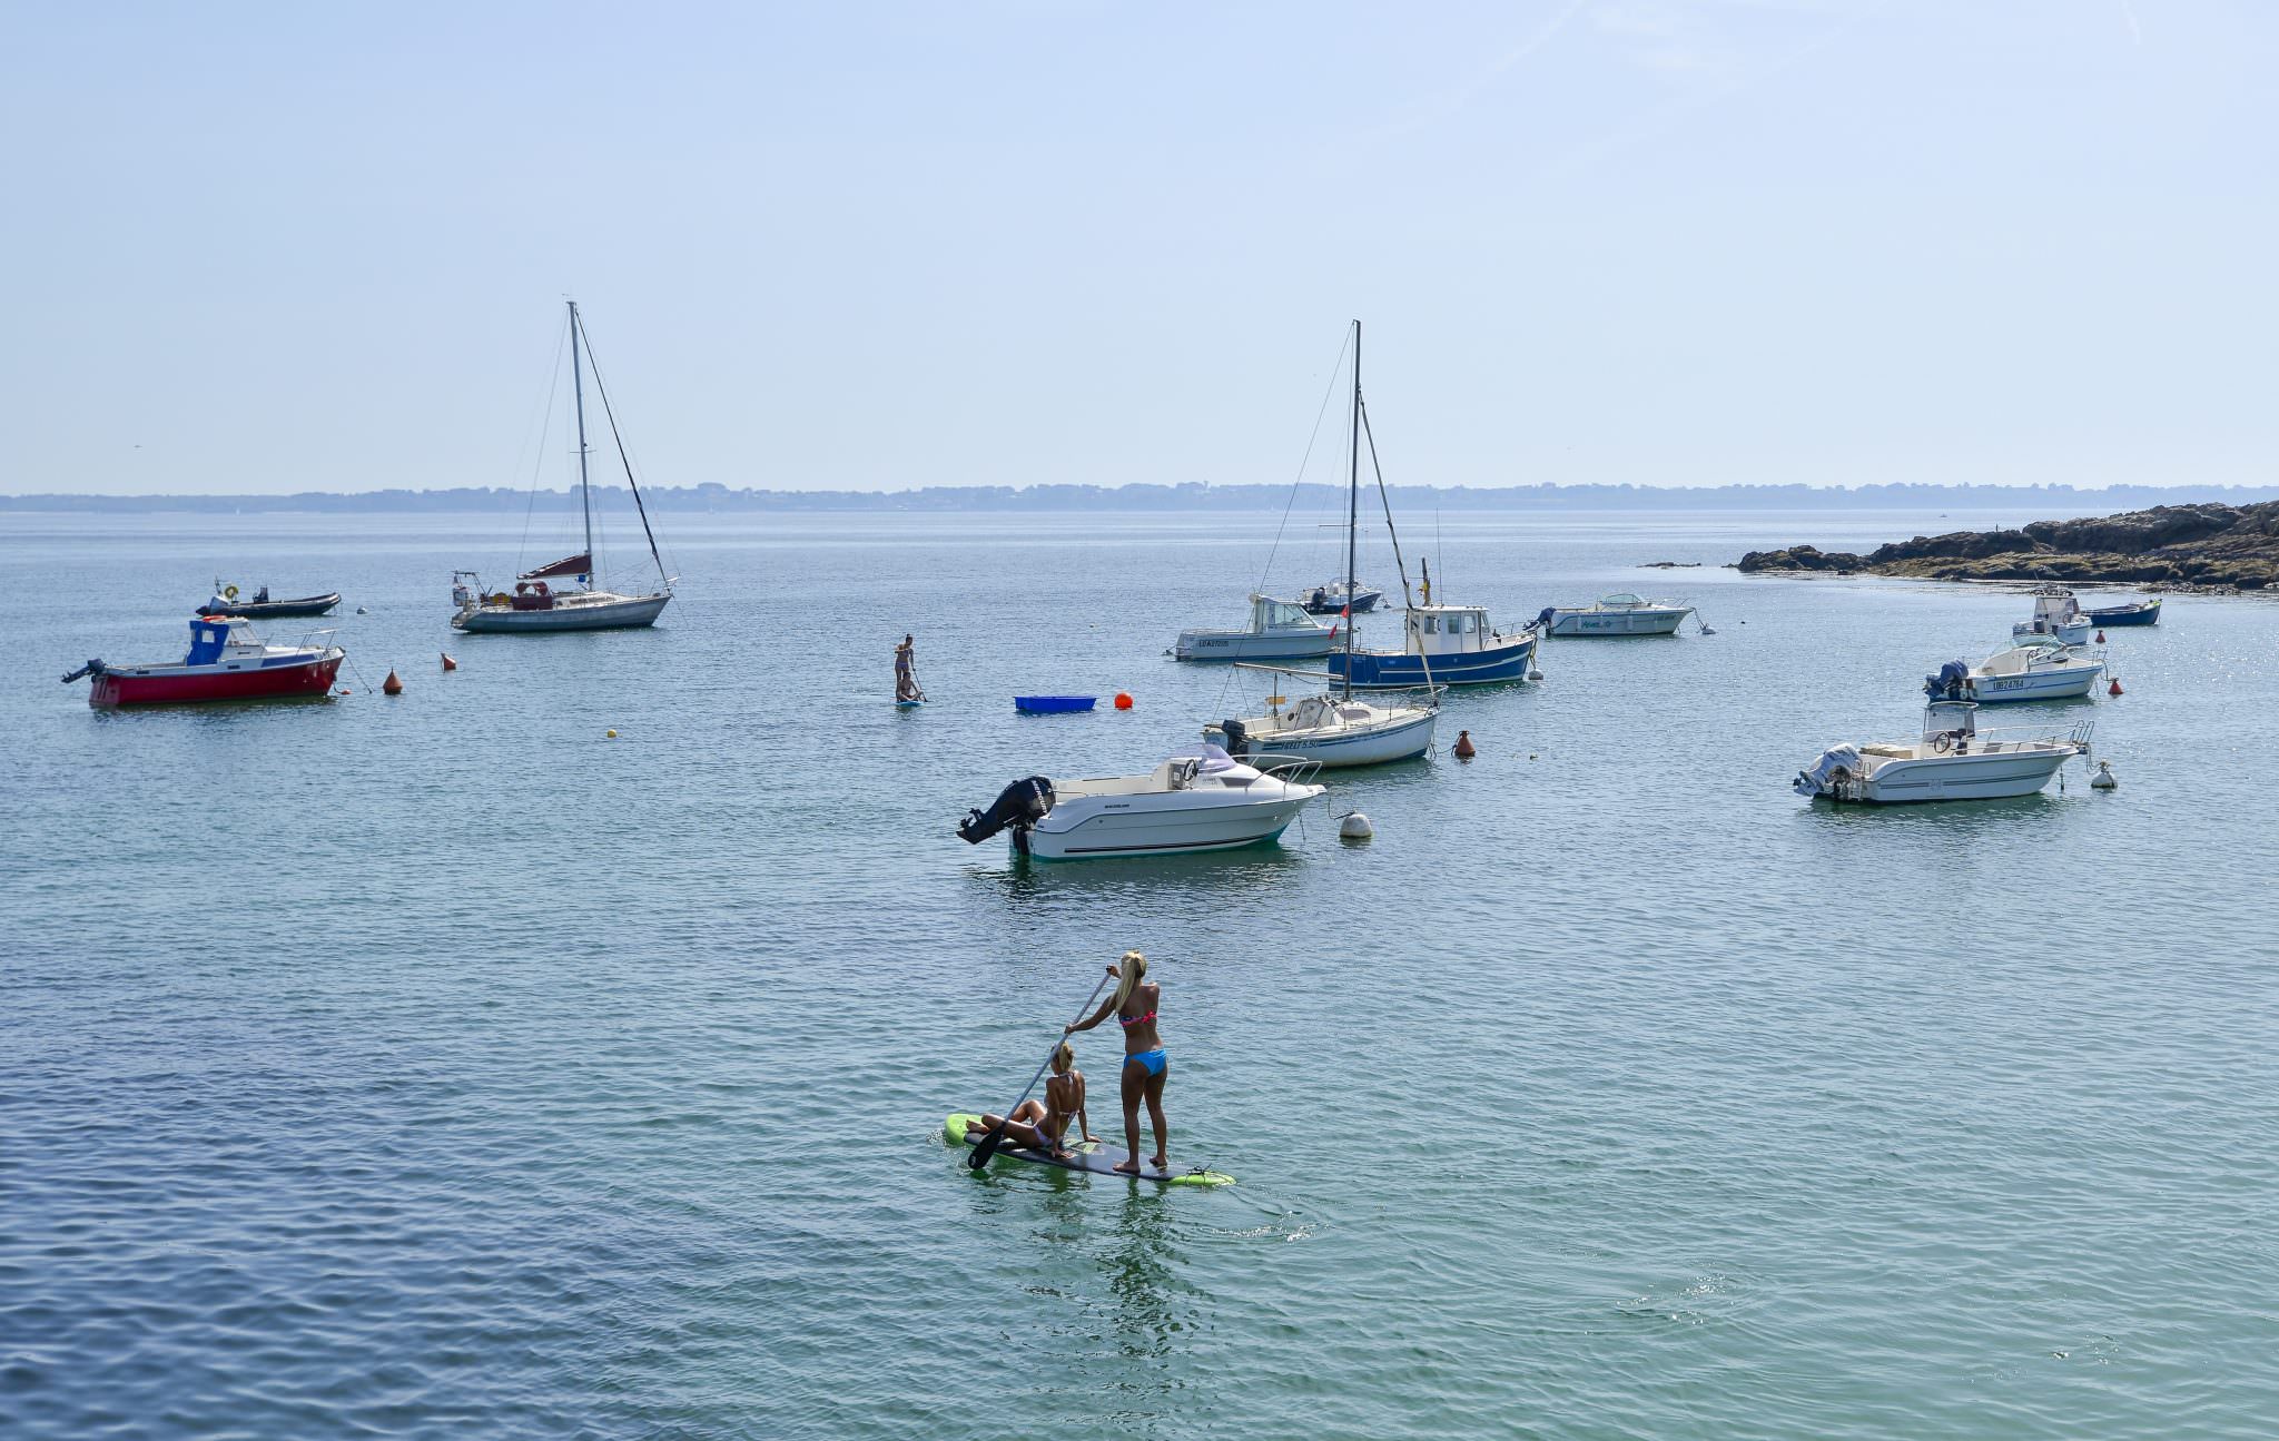
[[[2156,591],[2261,591],[2279,586],[2279,502],[2154,506],[2126,515],[2037,520],[2015,531],[1951,531],[1894,540],[1864,556],[1814,545],[1753,549],[1734,568],[1933,581],[2117,581]]]

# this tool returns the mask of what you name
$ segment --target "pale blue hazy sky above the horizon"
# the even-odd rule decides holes
[[[0,492],[2272,483],[2279,5],[0,0]],[[1320,470],[1308,479],[1338,479]]]

